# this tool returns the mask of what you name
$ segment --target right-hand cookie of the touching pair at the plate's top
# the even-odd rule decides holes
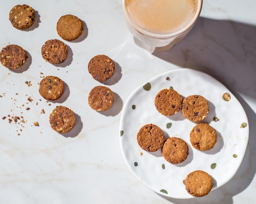
[[[200,95],[191,95],[183,100],[181,110],[189,121],[202,121],[209,113],[208,101]]]

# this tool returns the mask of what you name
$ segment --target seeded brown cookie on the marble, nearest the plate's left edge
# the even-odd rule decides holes
[[[93,110],[97,111],[110,109],[114,101],[114,93],[106,86],[95,86],[88,96],[88,104]]]

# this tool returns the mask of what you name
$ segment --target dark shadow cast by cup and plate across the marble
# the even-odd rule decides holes
[[[156,57],[184,68],[208,73],[223,83],[243,105],[249,121],[249,143],[234,177],[208,195],[188,200],[164,197],[176,204],[226,203],[246,191],[256,173],[256,114],[243,97],[256,101],[256,26],[229,20],[199,18],[191,32]],[[210,91],[210,90],[209,90]],[[241,195],[243,196],[243,195]]]

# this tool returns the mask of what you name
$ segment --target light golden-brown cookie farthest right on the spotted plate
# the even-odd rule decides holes
[[[207,151],[217,142],[216,131],[207,123],[199,123],[190,132],[190,142],[195,149]]]

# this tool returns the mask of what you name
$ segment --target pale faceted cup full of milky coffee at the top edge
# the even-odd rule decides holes
[[[135,44],[149,53],[170,50],[197,21],[202,0],[122,0]]]

